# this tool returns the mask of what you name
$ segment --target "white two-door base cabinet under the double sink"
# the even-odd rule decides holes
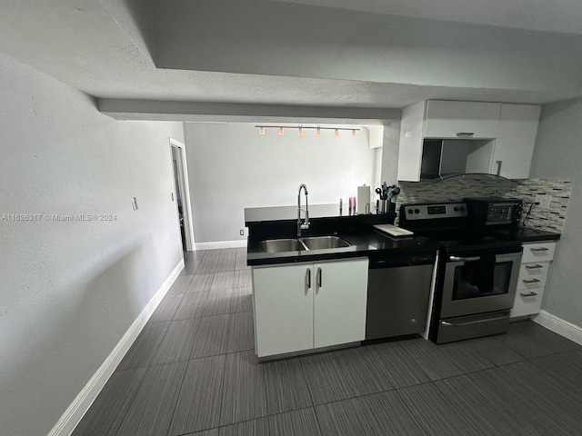
[[[253,268],[256,355],[363,341],[367,268],[367,258]]]

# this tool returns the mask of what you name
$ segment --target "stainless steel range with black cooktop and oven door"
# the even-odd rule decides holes
[[[467,203],[404,204],[400,226],[440,243],[429,338],[454,342],[507,332],[521,243],[475,224]]]

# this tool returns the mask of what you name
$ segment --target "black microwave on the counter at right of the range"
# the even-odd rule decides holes
[[[523,202],[517,198],[469,197],[463,202],[469,222],[477,226],[517,227],[521,221]]]

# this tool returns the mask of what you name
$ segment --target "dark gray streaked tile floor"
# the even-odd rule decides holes
[[[185,258],[75,436],[582,434],[582,347],[534,322],[259,363],[246,250]]]

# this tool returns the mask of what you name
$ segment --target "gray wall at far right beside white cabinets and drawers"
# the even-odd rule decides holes
[[[572,181],[562,238],[547,278],[542,309],[582,327],[580,253],[582,253],[582,99],[542,107],[537,129],[532,178]]]

